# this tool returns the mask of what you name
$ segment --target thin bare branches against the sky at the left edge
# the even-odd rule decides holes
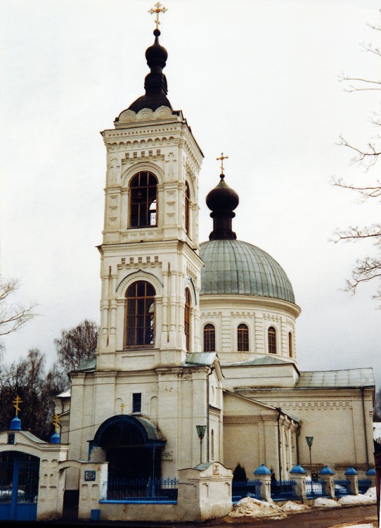
[[[0,277],[0,337],[16,332],[34,317],[34,305],[22,306],[10,303],[10,297],[18,289],[18,279]],[[4,344],[0,341],[0,350]]]

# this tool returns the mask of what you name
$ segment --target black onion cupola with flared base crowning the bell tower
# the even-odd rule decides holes
[[[144,80],[144,89],[146,94],[142,95],[129,106],[129,110],[138,112],[143,108],[150,108],[153,112],[160,106],[168,106],[172,110],[171,103],[167,99],[168,87],[167,79],[162,73],[165,68],[168,52],[160,45],[160,30],[154,30],[155,42],[146,49],[147,64],[150,67],[150,73]]]

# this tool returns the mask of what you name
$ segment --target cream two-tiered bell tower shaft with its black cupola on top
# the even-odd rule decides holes
[[[156,12],[156,11],[155,11]],[[179,366],[200,351],[202,151],[167,99],[167,50],[146,50],[145,94],[102,133],[107,150],[97,370]]]

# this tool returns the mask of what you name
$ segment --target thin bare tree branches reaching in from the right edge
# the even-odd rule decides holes
[[[381,12],[381,10],[380,10]],[[369,25],[376,32],[381,32],[381,26]],[[377,58],[381,58],[381,51],[378,46],[373,44],[363,44],[363,48]],[[362,77],[350,77],[343,75],[341,81],[347,83],[347,92],[363,92],[363,91],[379,91],[381,90],[381,80],[369,80]],[[375,114],[371,120],[372,124],[377,128],[381,126],[380,114]],[[377,129],[378,130],[378,129]],[[346,146],[353,151],[354,157],[351,159],[352,163],[358,163],[366,169],[366,172],[373,168],[377,163],[378,156],[381,154],[381,134],[377,132],[375,137],[368,142],[365,147],[354,146],[347,139],[340,137],[340,145]],[[349,189],[359,194],[361,201],[368,199],[380,200],[381,197],[381,182],[375,180],[374,184],[370,185],[356,185],[348,184],[341,178],[334,178],[332,182],[335,186],[342,189]],[[381,224],[375,223],[365,227],[349,226],[346,230],[337,229],[333,234],[333,241],[359,241],[361,239],[370,239],[373,245],[376,246],[376,256],[366,256],[365,258],[356,260],[352,270],[352,276],[347,279],[347,291],[356,292],[357,287],[372,279],[380,279],[381,277]],[[373,298],[381,298],[381,287],[373,295]]]

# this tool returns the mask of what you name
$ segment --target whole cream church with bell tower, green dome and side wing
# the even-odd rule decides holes
[[[297,464],[313,475],[324,465],[338,477],[350,466],[365,475],[373,370],[300,372],[301,308],[276,260],[237,238],[240,199],[223,155],[221,174],[205,176],[212,221],[199,242],[203,154],[167,98],[168,54],[160,30],[154,36],[145,94],[102,132],[101,324],[96,358],[55,398],[60,457],[71,461],[62,491],[79,494],[82,463],[101,464],[109,489],[208,463],[240,465],[247,478],[262,464],[283,480]]]

